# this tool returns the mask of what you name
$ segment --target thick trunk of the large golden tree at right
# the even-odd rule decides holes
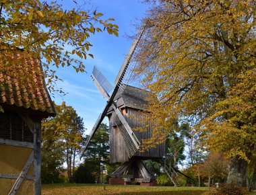
[[[237,184],[238,186],[245,186],[245,176],[247,169],[247,161],[234,157],[228,172],[227,184]]]

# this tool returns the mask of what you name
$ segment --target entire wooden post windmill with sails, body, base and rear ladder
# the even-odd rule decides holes
[[[87,149],[100,123],[105,116],[108,116],[110,126],[110,163],[123,162],[123,165],[112,173],[110,184],[125,184],[125,182],[135,181],[144,186],[152,186],[156,182],[156,178],[143,164],[143,160],[153,159],[164,164],[164,161],[162,161],[165,152],[164,143],[158,144],[156,147],[144,153],[139,151],[141,139],[150,138],[152,136],[152,129],[148,128],[145,132],[132,130],[133,128],[142,126],[141,111],[145,110],[143,105],[147,104],[146,97],[149,92],[122,83],[129,67],[131,56],[142,34],[143,30],[138,38],[133,41],[115,79],[114,86],[111,85],[97,67],[94,67],[92,71],[92,81],[94,81],[102,96],[108,100],[102,114],[98,117],[86,140],[80,158]],[[113,92],[110,94],[111,91]],[[167,169],[165,164],[164,170],[174,183],[174,186],[178,186],[177,180],[175,180],[177,172],[174,169]]]

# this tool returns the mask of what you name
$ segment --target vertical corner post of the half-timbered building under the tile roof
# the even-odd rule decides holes
[[[34,122],[34,194],[41,194],[41,123]]]

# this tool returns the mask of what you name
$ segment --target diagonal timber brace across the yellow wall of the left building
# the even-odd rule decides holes
[[[14,195],[19,190],[20,185],[22,184],[26,174],[28,173],[28,169],[30,168],[33,159],[34,159],[34,151],[32,151],[32,153],[30,153],[30,156],[28,157],[28,161],[26,161],[22,171],[20,172],[20,175],[18,176],[17,180],[13,184],[8,195]]]

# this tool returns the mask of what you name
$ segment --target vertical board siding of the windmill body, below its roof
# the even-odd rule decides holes
[[[143,126],[142,113],[139,110],[133,108],[122,108],[121,112],[131,128]],[[121,126],[120,120],[117,118],[115,112],[111,112],[110,119],[110,162],[123,162],[128,161],[129,157],[126,151],[125,142],[121,132],[117,126]],[[137,139],[141,142],[142,139],[148,139],[152,137],[152,130],[148,128],[145,132],[133,131]],[[143,153],[137,151],[134,157],[143,157],[145,159],[162,158],[165,152],[165,144],[156,145],[156,148],[152,148],[149,151]]]

